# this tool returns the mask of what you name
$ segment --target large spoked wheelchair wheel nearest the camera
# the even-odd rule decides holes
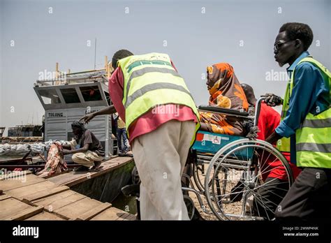
[[[285,176],[277,178],[277,172]],[[214,155],[205,195],[220,220],[271,220],[292,183],[288,161],[277,149],[262,140],[242,139]]]

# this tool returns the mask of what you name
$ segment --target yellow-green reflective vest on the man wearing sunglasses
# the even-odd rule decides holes
[[[316,66],[323,74],[324,84],[331,92],[331,74],[312,57],[305,57],[303,61]],[[293,90],[294,72],[291,75],[289,94]],[[288,101],[285,101],[286,104]],[[331,168],[331,108],[318,115],[310,112],[305,117],[300,128],[295,131],[297,166],[314,168]]]

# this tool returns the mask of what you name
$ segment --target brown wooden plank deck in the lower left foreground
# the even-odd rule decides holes
[[[6,175],[0,179],[0,220],[135,220],[135,215],[112,207],[109,202],[69,188],[132,160],[118,157],[102,163],[103,168],[96,172],[67,172],[48,179],[28,171]]]

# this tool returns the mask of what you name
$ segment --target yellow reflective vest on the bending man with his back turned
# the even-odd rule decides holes
[[[191,108],[199,121],[198,110],[183,78],[172,67],[167,54],[150,53],[118,61],[124,75],[123,105],[126,128],[157,105],[177,104]],[[198,122],[196,130],[200,127]],[[129,135],[129,134],[128,134]],[[194,142],[195,136],[192,140]]]

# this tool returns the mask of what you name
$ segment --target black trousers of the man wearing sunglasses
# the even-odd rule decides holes
[[[275,212],[276,219],[331,218],[331,169],[304,168]]]

